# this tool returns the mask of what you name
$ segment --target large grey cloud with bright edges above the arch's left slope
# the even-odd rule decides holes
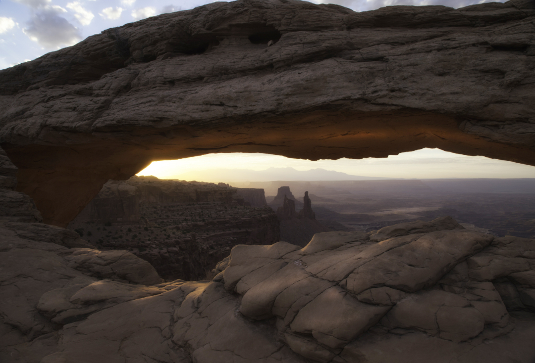
[[[59,16],[64,12],[66,10],[63,7],[47,6],[33,13],[28,27],[22,31],[30,40],[47,49],[59,49],[65,45],[76,44],[82,40],[80,29]]]

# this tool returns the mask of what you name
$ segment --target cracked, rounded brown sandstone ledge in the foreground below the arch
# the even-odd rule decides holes
[[[535,359],[535,241],[450,217],[235,246],[211,281],[77,236],[0,220],[2,363]]]

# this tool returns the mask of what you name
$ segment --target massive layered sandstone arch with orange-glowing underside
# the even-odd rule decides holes
[[[0,145],[59,226],[108,179],[207,153],[439,147],[535,165],[534,18],[530,0],[162,14],[0,71]]]

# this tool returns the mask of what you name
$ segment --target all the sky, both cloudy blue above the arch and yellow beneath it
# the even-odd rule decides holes
[[[333,3],[355,11],[388,5],[445,5],[454,8],[485,0],[312,0]],[[503,1],[501,1],[503,2]],[[50,51],[76,44],[105,29],[154,15],[193,9],[207,0],[0,0],[0,69],[35,59]],[[533,178],[535,167],[477,156],[423,149],[386,159],[338,161],[293,160],[264,154],[212,154],[179,161],[152,163],[141,175],[173,177],[194,168],[265,170],[293,167],[323,168],[351,175],[392,178]],[[193,169],[192,169],[193,168]]]

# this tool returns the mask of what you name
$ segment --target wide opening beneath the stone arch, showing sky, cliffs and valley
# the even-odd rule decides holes
[[[535,238],[534,206],[535,167],[483,156],[229,153],[157,161],[110,180],[68,228],[98,249],[131,251],[165,279],[202,280],[236,244],[305,246],[319,232],[444,216],[479,232]]]

